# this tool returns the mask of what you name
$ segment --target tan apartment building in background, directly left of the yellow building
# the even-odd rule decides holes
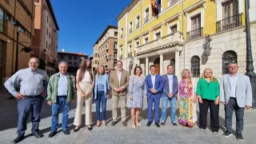
[[[118,26],[107,26],[94,44],[93,68],[105,66],[114,70],[118,56]]]

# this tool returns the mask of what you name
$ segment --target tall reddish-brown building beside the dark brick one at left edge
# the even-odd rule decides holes
[[[35,5],[34,37],[32,49],[34,56],[46,62],[48,75],[55,74],[58,61],[58,22],[50,0],[37,0]]]

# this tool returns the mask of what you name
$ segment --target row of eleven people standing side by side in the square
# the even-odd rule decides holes
[[[49,138],[57,134],[58,114],[62,109],[62,132],[70,134],[67,121],[70,111],[70,102],[77,98],[77,108],[74,117],[74,132],[82,125],[82,106],[86,103],[86,126],[93,129],[92,102],[96,103],[96,127],[107,126],[106,101],[112,95],[112,126],[118,123],[118,106],[121,109],[122,125],[127,126],[126,107],[130,108],[131,126],[141,126],[138,120],[143,108],[144,98],[147,100],[147,124],[150,126],[154,120],[157,127],[165,126],[166,111],[170,103],[170,122],[176,123],[176,103],[179,103],[178,123],[182,126],[192,127],[197,121],[196,102],[199,103],[199,128],[205,130],[207,126],[207,113],[210,108],[210,127],[214,134],[219,130],[219,102],[225,105],[226,132],[224,137],[229,137],[232,127],[232,116],[236,114],[237,138],[243,141],[243,116],[244,110],[252,105],[252,92],[250,79],[238,73],[238,65],[230,63],[229,74],[224,74],[221,81],[214,78],[213,71],[203,71],[197,86],[191,81],[190,70],[182,70],[182,77],[173,74],[174,67],[167,66],[167,74],[159,75],[155,66],[150,66],[150,74],[142,76],[142,68],[135,66],[134,75],[122,69],[122,61],[117,62],[117,70],[105,74],[104,66],[99,66],[94,75],[90,67],[90,60],[82,60],[76,77],[67,73],[67,63],[59,62],[59,73],[50,78],[44,70],[38,69],[38,58],[30,58],[29,68],[18,70],[6,83],[6,89],[18,99],[18,137],[14,143],[21,142],[26,131],[26,120],[32,112],[32,135],[42,138],[38,133],[42,102],[46,97],[47,104],[52,109],[51,132]],[[16,85],[20,90],[15,90]],[[196,88],[195,88],[196,87]],[[46,96],[47,95],[47,96]],[[160,120],[159,104],[162,98],[162,118]],[[154,118],[152,109],[154,105]],[[102,114],[100,108],[102,107]],[[102,115],[102,122],[100,116]],[[161,121],[161,122],[160,122]],[[159,124],[160,123],[160,124]]]

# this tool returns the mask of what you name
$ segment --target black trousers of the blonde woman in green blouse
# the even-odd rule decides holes
[[[207,113],[210,107],[210,129],[213,132],[218,132],[219,130],[219,118],[218,110],[219,105],[215,105],[214,101],[202,99],[202,104],[199,103],[199,128],[206,129],[207,126]]]

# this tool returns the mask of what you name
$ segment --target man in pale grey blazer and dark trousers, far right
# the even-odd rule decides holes
[[[236,133],[239,141],[242,137],[243,116],[245,108],[252,106],[252,91],[250,78],[238,73],[238,64],[230,63],[229,74],[224,74],[220,82],[220,102],[225,105],[226,132],[224,137],[229,137],[232,129],[233,112],[236,114]]]

